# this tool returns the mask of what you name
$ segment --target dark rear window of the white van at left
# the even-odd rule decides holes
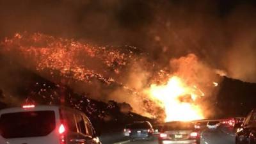
[[[0,117],[0,134],[4,138],[46,136],[54,129],[54,111],[6,113]]]

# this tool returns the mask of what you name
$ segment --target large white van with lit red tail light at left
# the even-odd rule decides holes
[[[7,143],[100,144],[88,117],[62,106],[26,105],[0,110],[1,136]]]

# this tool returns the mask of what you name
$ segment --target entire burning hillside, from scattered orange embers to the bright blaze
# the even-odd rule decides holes
[[[207,117],[211,109],[205,99],[211,99],[219,81],[214,70],[195,54],[172,59],[163,68],[134,49],[93,47],[41,33],[17,33],[1,45],[1,54],[54,83],[88,93],[93,99],[126,102],[134,112],[164,121]],[[74,106],[79,109],[83,102]]]

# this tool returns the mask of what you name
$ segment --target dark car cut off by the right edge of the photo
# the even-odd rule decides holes
[[[256,109],[246,116],[236,132],[236,144],[256,144]]]

